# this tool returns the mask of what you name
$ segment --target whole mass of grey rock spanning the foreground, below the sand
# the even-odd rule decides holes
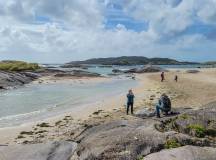
[[[159,160],[161,157],[167,160],[213,160],[216,155],[214,134],[205,132],[207,135],[199,137],[178,128],[188,128],[184,127],[187,123],[206,124],[206,130],[210,127],[211,133],[214,133],[215,104],[208,104],[199,110],[180,109],[182,114],[161,119],[151,117],[143,113],[146,110],[141,110],[138,112],[141,118],[86,124],[88,127],[72,138],[77,145],[53,142],[2,146],[0,152],[5,153],[6,160],[15,157],[17,160]]]

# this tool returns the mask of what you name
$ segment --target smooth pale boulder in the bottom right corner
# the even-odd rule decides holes
[[[184,146],[175,149],[163,150],[144,158],[145,160],[215,160],[216,148]]]

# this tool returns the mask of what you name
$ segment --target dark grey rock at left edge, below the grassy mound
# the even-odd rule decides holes
[[[32,72],[5,72],[0,71],[0,88],[21,86],[37,79],[40,75]]]

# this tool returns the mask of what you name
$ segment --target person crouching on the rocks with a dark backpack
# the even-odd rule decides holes
[[[171,101],[170,98],[164,93],[161,95],[158,104],[156,105],[156,114],[160,118],[160,110],[168,115],[168,112],[171,111]]]

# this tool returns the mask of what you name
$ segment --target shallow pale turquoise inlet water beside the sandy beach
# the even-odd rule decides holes
[[[0,127],[20,125],[70,111],[74,107],[126,93],[130,79],[91,84],[31,84],[0,92]]]

